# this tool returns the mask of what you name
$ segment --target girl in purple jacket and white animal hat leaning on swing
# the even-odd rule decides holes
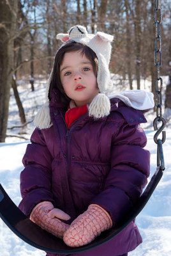
[[[110,93],[113,36],[75,26],[57,39],[64,44],[23,159],[19,207],[75,247],[116,225],[147,184],[149,152],[139,124],[146,122],[141,110],[153,101],[152,93],[142,91]],[[79,255],[125,256],[140,243],[132,221],[107,243]]]

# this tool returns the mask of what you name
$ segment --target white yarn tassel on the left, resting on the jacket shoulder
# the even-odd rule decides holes
[[[48,102],[46,102],[34,117],[34,125],[40,129],[47,129],[52,126]]]

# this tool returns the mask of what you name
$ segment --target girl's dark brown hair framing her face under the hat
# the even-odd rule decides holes
[[[75,41],[71,41],[66,43],[63,47],[59,49],[56,53],[56,57],[54,60],[54,69],[52,72],[52,79],[50,82],[50,90],[48,93],[48,97],[51,98],[51,92],[53,88],[59,89],[59,91],[63,94],[65,99],[69,99],[66,93],[64,92],[63,84],[61,83],[60,79],[60,66],[63,62],[64,54],[66,52],[74,52],[74,51],[80,51],[82,55],[85,54],[88,60],[91,61],[93,65],[93,71],[94,75],[97,77],[98,73],[98,58],[93,50],[89,48],[87,45],[77,43]]]

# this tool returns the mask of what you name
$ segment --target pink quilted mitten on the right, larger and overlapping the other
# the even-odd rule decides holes
[[[107,211],[99,205],[89,205],[87,211],[75,219],[64,233],[64,243],[78,247],[91,243],[102,231],[112,227],[112,220]]]

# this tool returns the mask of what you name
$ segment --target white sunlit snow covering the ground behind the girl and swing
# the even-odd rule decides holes
[[[116,77],[115,77],[116,78]],[[117,80],[118,79],[118,80]],[[115,79],[116,90],[119,88],[119,77]],[[167,84],[168,77],[163,77],[163,87]],[[43,79],[36,79],[35,91],[31,92],[31,85],[28,81],[18,81],[18,90],[20,99],[22,100],[24,109],[26,111],[27,121],[33,120],[37,109],[44,102],[45,84]],[[125,82],[124,90],[126,90]],[[149,81],[142,81],[142,89],[149,90]],[[29,88],[29,89],[28,89]],[[26,90],[27,89],[27,90]],[[164,99],[164,97],[163,97]],[[156,170],[156,143],[153,141],[154,131],[152,127],[152,120],[155,117],[153,111],[149,111],[146,115],[147,124],[143,124],[145,134],[147,135],[147,150],[151,152],[151,175]],[[19,113],[11,91],[10,98],[10,116],[8,120],[8,127],[20,125]],[[160,125],[158,125],[160,126]],[[7,137],[6,143],[0,143],[0,182],[8,195],[15,204],[19,205],[20,197],[20,172],[22,171],[22,157],[26,150],[31,132],[33,132],[33,122],[29,123],[27,127],[8,129],[8,135],[17,134],[26,138]],[[163,177],[152,194],[149,202],[138,215],[136,223],[142,234],[143,243],[138,246],[129,256],[171,256],[171,127],[167,125],[165,131],[167,132],[167,140],[163,144],[163,151],[165,156],[165,171]],[[19,135],[20,134],[20,135]],[[12,214],[12,212],[11,212]],[[46,253],[33,248],[29,244],[20,240],[15,236],[11,230],[6,227],[2,220],[0,220],[0,241],[2,256],[45,256]]]

